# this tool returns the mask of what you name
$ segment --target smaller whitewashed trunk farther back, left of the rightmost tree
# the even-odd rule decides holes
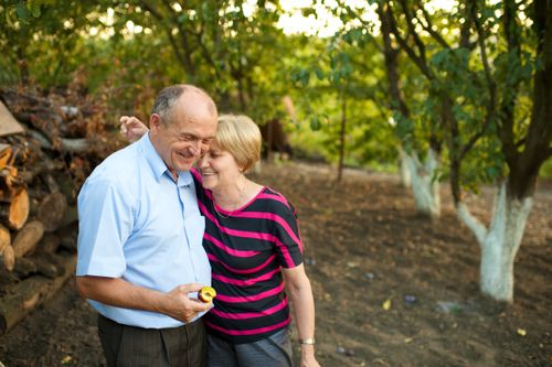
[[[411,176],[411,188],[416,211],[432,218],[438,218],[440,216],[440,185],[435,179],[435,173],[440,163],[437,153],[429,149],[423,164],[416,153],[407,154],[405,152],[404,155]]]

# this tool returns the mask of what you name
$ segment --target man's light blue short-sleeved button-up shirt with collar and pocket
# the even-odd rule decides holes
[[[192,282],[211,284],[202,246],[205,219],[192,176],[179,172],[174,182],[149,134],[94,170],[78,194],[78,220],[77,276],[123,278],[161,292]],[[120,324],[182,325],[159,313],[89,303]]]

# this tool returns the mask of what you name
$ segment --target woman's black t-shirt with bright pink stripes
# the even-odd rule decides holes
[[[217,293],[203,320],[210,333],[235,344],[265,338],[290,322],[280,267],[302,262],[295,209],[269,187],[236,211],[215,209],[212,193],[192,173]]]

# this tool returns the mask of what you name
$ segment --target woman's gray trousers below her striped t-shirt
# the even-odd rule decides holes
[[[254,343],[234,344],[208,335],[209,367],[293,367],[289,328]]]

